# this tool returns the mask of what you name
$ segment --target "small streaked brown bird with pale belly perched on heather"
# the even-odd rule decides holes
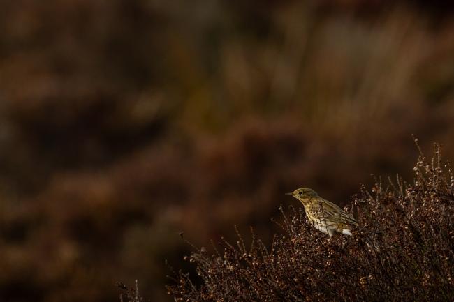
[[[351,214],[318,196],[317,192],[311,188],[299,188],[286,194],[295,197],[302,203],[309,222],[319,231],[328,234],[330,236],[328,241],[335,234],[351,236],[353,227],[358,226],[358,222]]]

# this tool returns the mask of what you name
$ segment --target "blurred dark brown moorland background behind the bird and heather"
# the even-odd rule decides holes
[[[452,160],[453,8],[1,0],[0,301],[172,301],[179,232],[269,243],[284,192],[409,179],[412,133]]]

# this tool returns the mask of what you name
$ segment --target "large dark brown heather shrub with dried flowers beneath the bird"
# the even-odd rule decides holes
[[[284,206],[271,246],[251,229],[248,244],[237,232],[214,252],[194,247],[185,259],[196,274],[174,273],[168,293],[175,301],[452,301],[453,173],[439,146],[413,170],[411,183],[376,179],[352,197],[353,236],[327,241],[302,206]]]

